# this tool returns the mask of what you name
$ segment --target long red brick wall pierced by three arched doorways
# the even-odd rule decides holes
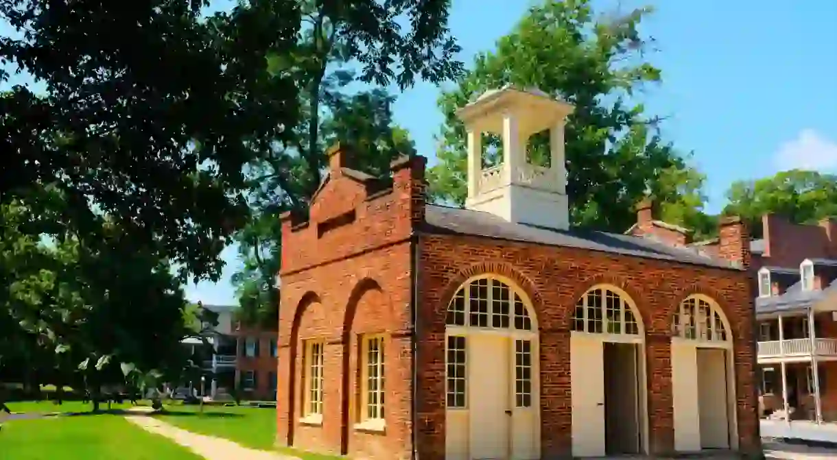
[[[695,293],[716,299],[732,325],[740,446],[748,452],[760,448],[752,378],[752,286],[746,272],[476,237],[422,237],[420,260],[418,415],[425,460],[444,458],[444,312],[465,279],[486,272],[515,280],[535,304],[541,328],[544,457],[571,452],[570,320],[578,298],[599,283],[629,293],[645,325],[650,450],[667,453],[674,447],[671,322],[675,307]]]

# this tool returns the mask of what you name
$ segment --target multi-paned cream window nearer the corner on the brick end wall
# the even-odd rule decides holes
[[[377,362],[370,362],[370,351],[372,345],[377,345]],[[386,352],[387,340],[384,335],[363,335],[361,347],[361,389],[360,405],[359,405],[359,420],[355,426],[358,430],[363,431],[383,431],[386,427]],[[375,369],[376,376],[374,380],[377,381],[376,389],[371,391],[369,388],[370,371]],[[375,401],[370,401],[372,393],[375,395]],[[383,400],[383,401],[382,401]],[[373,413],[370,414],[370,411]]]

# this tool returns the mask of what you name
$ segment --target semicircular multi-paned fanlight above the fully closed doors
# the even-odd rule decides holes
[[[448,305],[447,325],[531,330],[531,317],[520,294],[499,279],[478,278],[463,284]]]

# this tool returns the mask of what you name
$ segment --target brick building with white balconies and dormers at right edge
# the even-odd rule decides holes
[[[837,222],[762,219],[752,240],[759,411],[773,420],[837,421]],[[816,370],[816,371],[814,371]]]

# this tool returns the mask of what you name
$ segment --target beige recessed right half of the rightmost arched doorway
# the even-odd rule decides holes
[[[697,350],[697,391],[701,418],[701,447],[727,449],[727,355],[724,350]]]

